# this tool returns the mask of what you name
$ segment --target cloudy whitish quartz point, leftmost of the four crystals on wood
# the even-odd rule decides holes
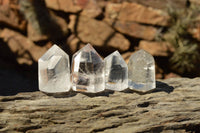
[[[70,90],[69,56],[53,45],[38,61],[39,89],[46,93]]]

